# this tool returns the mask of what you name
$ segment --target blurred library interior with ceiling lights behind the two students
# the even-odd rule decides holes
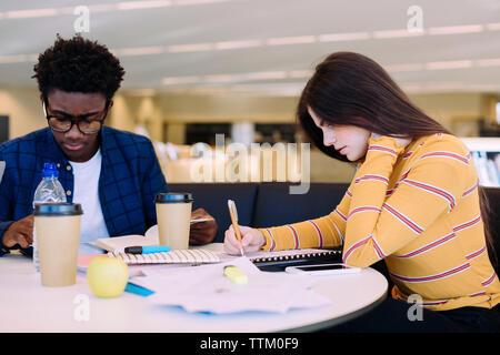
[[[178,2],[87,1],[82,32],[110,48],[127,72],[106,124],[149,136],[169,182],[232,182],[226,174],[200,181],[193,171],[200,162],[211,171],[233,166],[241,146],[252,159],[240,159],[246,173],[237,182],[302,179],[300,170],[279,173],[282,159],[300,166],[308,143],[297,124],[298,97],[316,64],[347,50],[384,67],[417,105],[463,139],[480,184],[500,186],[500,17],[492,2],[422,3],[417,34],[408,30],[410,1],[383,9],[377,1]],[[56,33],[74,34],[77,20],[67,2],[52,4],[50,13],[34,1],[0,4],[0,142],[47,125],[33,64]],[[229,152],[231,143],[240,150]],[[354,173],[313,146],[308,154],[311,182],[349,182]],[[269,164],[272,173],[262,173]]]

